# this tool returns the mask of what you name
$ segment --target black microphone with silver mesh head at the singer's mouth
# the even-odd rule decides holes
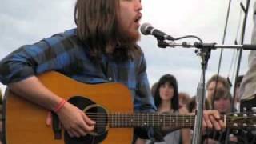
[[[141,32],[144,35],[154,35],[155,38],[158,40],[170,40],[174,41],[175,38],[171,37],[170,35],[155,29],[153,26],[150,25],[150,23],[143,23],[141,26]]]

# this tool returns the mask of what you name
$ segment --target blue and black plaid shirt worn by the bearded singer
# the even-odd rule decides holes
[[[135,111],[156,110],[143,53],[126,62],[114,62],[110,56],[102,55],[101,64],[95,64],[86,47],[78,40],[76,29],[55,34],[34,45],[22,46],[0,62],[0,81],[6,85],[56,70],[79,82],[121,82],[132,94]]]

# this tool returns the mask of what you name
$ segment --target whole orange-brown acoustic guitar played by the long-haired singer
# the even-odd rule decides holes
[[[168,127],[172,130],[194,126],[194,116],[158,113],[133,113],[130,91],[118,83],[88,85],[57,72],[38,76],[55,94],[78,106],[96,121],[94,132],[82,138],[70,138],[62,130],[57,116],[46,126],[47,110],[6,90],[3,111],[4,143],[7,144],[130,144],[134,127]],[[226,126],[252,129],[254,114],[223,116]]]

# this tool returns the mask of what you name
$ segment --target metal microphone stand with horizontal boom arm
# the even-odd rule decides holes
[[[194,120],[194,132],[193,132],[193,144],[200,144],[202,138],[202,117],[203,117],[203,106],[205,103],[205,81],[206,81],[206,68],[207,63],[210,58],[210,51],[217,48],[231,48],[231,49],[244,49],[244,50],[253,50],[256,49],[256,45],[216,45],[216,43],[201,43],[194,42],[193,45],[188,44],[187,42],[182,42],[182,44],[177,44],[174,42],[166,42],[163,39],[158,39],[158,46],[160,48],[182,46],[185,48],[196,47],[199,50],[196,50],[196,54],[202,58],[201,68],[202,75],[197,89],[197,98],[196,98],[196,114]]]

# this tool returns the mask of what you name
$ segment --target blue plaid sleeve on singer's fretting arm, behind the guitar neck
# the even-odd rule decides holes
[[[150,92],[150,85],[146,74],[146,60],[143,54],[138,63],[138,84],[136,89],[136,96],[134,98],[134,109],[135,111],[142,113],[156,112],[157,108],[154,105],[154,98]],[[160,128],[136,128],[134,129],[134,134],[139,138],[150,139],[153,142],[163,141]]]

